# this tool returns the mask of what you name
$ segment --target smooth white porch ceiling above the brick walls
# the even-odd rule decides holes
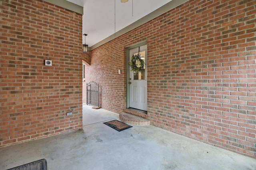
[[[84,7],[83,34],[91,47],[172,0],[67,0]],[[84,43],[84,36],[83,36]]]

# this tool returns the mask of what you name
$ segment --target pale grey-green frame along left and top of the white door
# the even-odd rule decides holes
[[[130,107],[130,88],[129,88],[129,78],[130,78],[130,49],[134,49],[143,45],[147,45],[147,41],[141,41],[134,45],[126,47],[126,108]]]

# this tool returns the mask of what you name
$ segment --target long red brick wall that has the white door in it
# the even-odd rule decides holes
[[[255,157],[255,4],[190,0],[94,49],[86,76],[102,108],[126,107],[125,47],[147,40],[152,125]]]

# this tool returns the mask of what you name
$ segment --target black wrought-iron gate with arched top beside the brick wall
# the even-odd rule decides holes
[[[86,104],[99,107],[99,85],[95,82],[86,83]]]

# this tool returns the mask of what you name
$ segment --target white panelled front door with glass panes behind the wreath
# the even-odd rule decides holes
[[[140,50],[140,51],[139,51]],[[147,111],[147,45],[130,50],[130,59],[134,54],[140,54],[144,60],[144,69],[133,72],[130,69],[130,107]],[[129,60],[130,61],[130,60]]]

